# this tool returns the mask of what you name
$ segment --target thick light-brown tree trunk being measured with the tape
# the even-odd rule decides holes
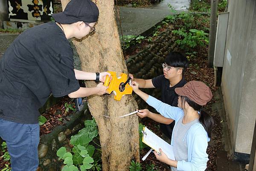
[[[69,0],[61,0],[64,9]],[[95,2],[96,1],[96,2]],[[82,41],[73,41],[81,60],[81,68],[87,72],[116,71],[128,73],[119,40],[114,13],[114,0],[94,0],[99,8],[99,20],[96,32]],[[87,87],[94,87],[94,81],[87,81]],[[88,97],[89,110],[95,118],[102,146],[103,171],[128,171],[132,159],[139,157],[138,117],[122,116],[137,109],[137,103],[131,95],[125,95],[121,101],[115,101],[113,93]]]

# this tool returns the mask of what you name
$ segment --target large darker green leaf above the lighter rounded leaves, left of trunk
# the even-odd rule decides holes
[[[93,138],[98,136],[98,128],[94,118],[93,120],[84,121],[84,125],[85,128],[79,130],[76,135],[71,136],[70,144],[85,145],[91,142]]]

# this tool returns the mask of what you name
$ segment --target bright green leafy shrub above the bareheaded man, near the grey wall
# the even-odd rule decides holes
[[[189,32],[186,32],[184,29],[178,29],[172,32],[180,37],[175,43],[186,51],[190,48],[205,47],[209,42],[209,34],[205,33],[203,30],[189,29]]]

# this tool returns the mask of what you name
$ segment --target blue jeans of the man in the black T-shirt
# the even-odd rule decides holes
[[[0,119],[0,136],[6,141],[12,171],[35,171],[38,168],[39,124]]]

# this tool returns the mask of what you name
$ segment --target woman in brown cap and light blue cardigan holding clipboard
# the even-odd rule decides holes
[[[135,81],[132,82],[131,87],[161,114],[143,109],[137,113],[140,118],[149,117],[163,124],[166,119],[175,120],[171,139],[175,160],[169,159],[161,149],[159,149],[160,154],[154,152],[157,159],[169,164],[172,171],[205,171],[208,161],[206,151],[213,119],[201,109],[212,99],[209,87],[201,81],[189,81],[183,87],[176,88],[175,92],[179,95],[178,107],[172,107],[143,93]]]

